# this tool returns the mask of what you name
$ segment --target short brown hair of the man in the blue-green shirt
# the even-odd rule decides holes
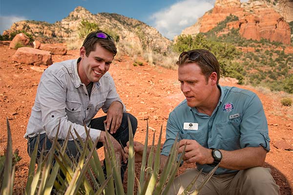
[[[194,53],[198,54],[198,57],[192,60],[189,58],[189,55]],[[196,62],[197,65],[200,67],[202,74],[205,75],[206,77],[207,82],[209,80],[210,74],[213,72],[216,72],[217,84],[219,83],[220,66],[219,66],[218,60],[212,53],[210,53],[208,50],[205,50],[205,49],[194,49],[188,52],[182,52],[177,61],[177,65],[181,66],[183,64],[193,63],[193,62]]]

